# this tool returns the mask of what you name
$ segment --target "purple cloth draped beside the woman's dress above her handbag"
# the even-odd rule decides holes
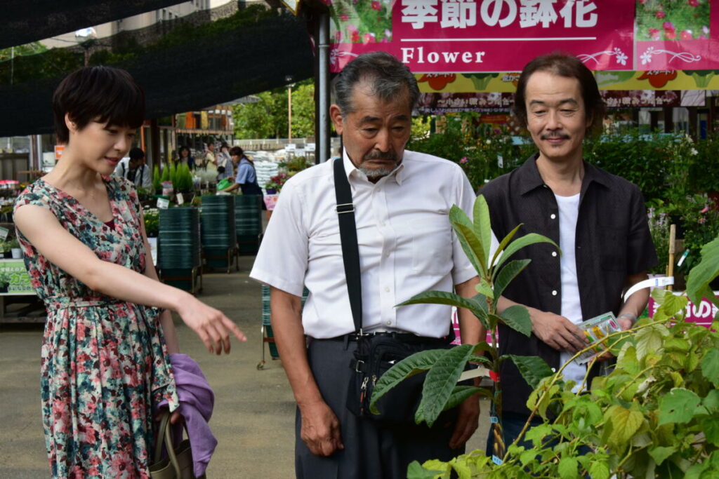
[[[185,419],[185,427],[192,444],[193,470],[196,477],[205,473],[212,453],[217,446],[217,440],[212,434],[209,424],[212,417],[212,408],[215,403],[215,394],[210,388],[200,366],[186,354],[170,354],[170,363],[175,375],[180,406],[178,411]],[[157,404],[157,409],[167,406],[168,401]],[[173,434],[174,437],[181,437],[180,434]]]

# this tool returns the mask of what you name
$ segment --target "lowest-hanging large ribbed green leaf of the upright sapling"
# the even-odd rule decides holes
[[[463,344],[446,350],[446,353],[441,355],[429,369],[420,401],[423,419],[429,427],[432,427],[441,411],[444,411],[444,405],[452,396],[457,379],[464,371],[464,365],[472,357],[474,348],[474,345]]]

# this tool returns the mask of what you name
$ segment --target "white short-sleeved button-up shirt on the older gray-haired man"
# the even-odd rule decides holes
[[[415,294],[450,292],[476,271],[449,223],[449,208],[472,215],[475,193],[458,164],[405,151],[402,163],[377,183],[344,154],[352,188],[362,270],[362,328],[441,338],[452,309],[441,304],[395,307]],[[288,180],[250,277],[301,296],[305,334],[334,338],[354,331],[339,240],[332,162]]]

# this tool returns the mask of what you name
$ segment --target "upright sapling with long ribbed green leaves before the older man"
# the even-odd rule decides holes
[[[521,248],[534,243],[551,243],[559,247],[545,236],[529,233],[521,238],[514,239],[521,225],[518,225],[500,242],[494,254],[490,254],[492,228],[490,213],[485,197],[477,197],[473,210],[474,220],[470,220],[456,205],[449,211],[449,220],[457,233],[459,242],[472,265],[477,270],[480,284],[477,285],[477,294],[472,298],[464,298],[458,294],[430,291],[417,294],[406,302],[399,304],[449,304],[470,310],[482,325],[491,332],[492,343],[485,341],[476,345],[465,344],[449,350],[427,350],[411,355],[390,368],[383,374],[375,385],[370,403],[370,410],[377,413],[375,404],[390,389],[404,379],[421,371],[428,371],[423,385],[422,399],[415,415],[417,424],[426,422],[430,427],[439,414],[446,409],[457,406],[461,401],[473,394],[482,394],[494,402],[495,412],[501,418],[501,382],[495,382],[494,390],[475,386],[458,386],[457,381],[468,362],[473,362],[498,373],[500,363],[511,360],[516,363],[523,376],[530,384],[536,384],[539,379],[551,374],[549,366],[539,358],[518,355],[499,355],[498,352],[498,325],[500,323],[521,332],[527,337],[531,335],[532,325],[526,307],[515,305],[503,312],[497,310],[497,302],[505,287],[531,262],[529,259],[512,260],[510,258]],[[498,428],[498,447],[503,455],[503,441],[501,440],[501,419]]]

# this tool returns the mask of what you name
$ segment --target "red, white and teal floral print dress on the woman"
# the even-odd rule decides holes
[[[113,221],[44,180],[15,208],[39,205],[100,259],[145,271],[139,201],[132,185],[104,177]],[[18,231],[25,266],[47,323],[41,396],[45,446],[55,478],[148,478],[152,406],[178,405],[175,380],[155,308],[89,289],[47,261]]]

